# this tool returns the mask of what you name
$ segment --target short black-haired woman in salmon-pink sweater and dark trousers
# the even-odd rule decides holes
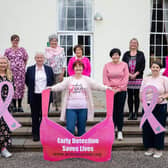
[[[120,61],[121,52],[114,48],[110,51],[112,62],[107,63],[103,69],[103,83],[112,87],[115,92],[113,121],[118,129],[117,139],[122,140],[123,113],[128,84],[128,66]]]

